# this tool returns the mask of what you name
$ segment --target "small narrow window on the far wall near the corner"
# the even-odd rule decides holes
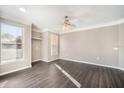
[[[50,40],[51,40],[51,56],[58,55],[58,35],[51,34]]]

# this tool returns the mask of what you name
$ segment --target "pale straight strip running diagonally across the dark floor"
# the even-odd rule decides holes
[[[62,69],[59,65],[54,64],[67,78],[69,78],[78,88],[81,87],[81,84],[74,79],[69,73],[67,73],[64,69]]]

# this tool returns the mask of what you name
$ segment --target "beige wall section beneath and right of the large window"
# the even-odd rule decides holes
[[[0,75],[13,72],[19,69],[31,67],[31,29],[30,26],[23,25],[24,31],[24,61],[12,62],[0,65]],[[27,38],[28,37],[28,38]]]

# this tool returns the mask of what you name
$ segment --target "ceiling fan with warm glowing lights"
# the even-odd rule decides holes
[[[72,23],[72,20],[70,19],[69,16],[65,16],[64,17],[64,24],[63,24],[63,30],[64,31],[68,31],[70,30],[72,27],[75,27],[76,25],[74,25]]]

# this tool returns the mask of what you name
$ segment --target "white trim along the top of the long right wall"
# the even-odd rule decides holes
[[[88,27],[84,27],[84,28],[78,28],[78,29],[75,29],[75,30],[60,32],[59,34],[62,35],[62,34],[68,34],[68,33],[72,33],[72,32],[86,31],[86,30],[91,30],[91,29],[96,29],[96,28],[119,25],[119,24],[122,24],[122,23],[124,23],[124,18],[122,18],[120,20],[117,20],[117,21],[104,23],[104,24],[99,24],[99,25],[88,26]]]

